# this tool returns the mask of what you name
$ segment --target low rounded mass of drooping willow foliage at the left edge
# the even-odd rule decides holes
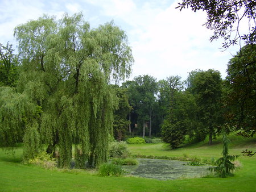
[[[38,127],[40,112],[40,107],[31,103],[26,94],[16,93],[12,87],[0,87],[1,147],[13,147],[23,140],[24,132],[30,127]]]

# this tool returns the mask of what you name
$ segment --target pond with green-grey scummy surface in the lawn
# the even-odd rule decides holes
[[[203,177],[209,173],[209,165],[189,166],[187,161],[138,158],[138,165],[125,165],[123,169],[132,176],[154,178],[156,180],[176,180]]]

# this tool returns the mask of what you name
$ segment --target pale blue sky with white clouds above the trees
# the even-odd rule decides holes
[[[204,12],[175,9],[181,0],[0,0],[0,43],[9,41],[16,47],[14,28],[36,20],[43,14],[61,18],[82,12],[92,28],[114,21],[126,32],[133,50],[134,64],[130,80],[148,74],[157,80],[181,76],[185,80],[192,70],[215,69],[226,77],[228,61],[238,46],[226,51],[223,40],[209,41],[213,31],[203,24]]]

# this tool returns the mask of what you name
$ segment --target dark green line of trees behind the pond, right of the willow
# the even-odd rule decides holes
[[[189,72],[185,81],[181,81],[180,76],[170,76],[166,80],[156,81],[156,78],[144,75],[135,77],[133,81],[123,82],[122,86],[117,86],[123,97],[119,97],[122,105],[115,114],[121,110],[126,111],[123,119],[129,121],[126,122],[126,126],[118,126],[118,122],[121,121],[115,121],[115,139],[121,140],[125,135],[162,136],[172,148],[177,148],[186,136],[193,141],[202,141],[209,136],[209,144],[212,144],[213,138],[221,134],[223,128],[226,132],[238,131],[243,136],[253,136],[253,48],[255,45],[247,45],[242,49],[243,56],[242,52],[238,52],[229,61],[228,76],[225,80],[222,80],[217,70],[197,69]],[[248,66],[249,72],[244,70],[248,65],[247,54],[254,60],[251,66]],[[245,59],[246,62],[242,63]],[[249,79],[250,84],[245,86]],[[241,93],[238,90],[241,90]],[[250,93],[246,95],[247,98],[246,93]],[[126,108],[122,108],[123,106]],[[248,119],[245,119],[245,113]],[[248,126],[249,124],[251,126]]]

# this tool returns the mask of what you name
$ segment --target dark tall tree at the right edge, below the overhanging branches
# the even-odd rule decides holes
[[[243,136],[256,133],[256,45],[246,45],[229,61],[226,117]]]

